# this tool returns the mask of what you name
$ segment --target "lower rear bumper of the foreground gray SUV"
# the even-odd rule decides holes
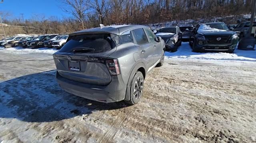
[[[118,102],[124,100],[126,86],[122,82],[121,76],[113,76],[112,81],[107,86],[98,86],[69,80],[56,73],[57,82],[60,87],[76,96],[95,100],[99,102]]]

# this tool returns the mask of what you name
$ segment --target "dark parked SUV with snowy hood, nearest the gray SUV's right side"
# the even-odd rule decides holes
[[[178,26],[160,28],[156,33],[156,37],[159,36],[164,40],[166,50],[177,51],[181,45],[182,32]]]

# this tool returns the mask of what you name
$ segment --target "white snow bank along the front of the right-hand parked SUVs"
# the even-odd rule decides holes
[[[207,59],[207,60],[230,60],[230,61],[256,61],[256,51],[244,51],[235,49],[234,53],[195,53],[188,42],[182,42],[178,51],[165,52],[165,58],[180,59]]]

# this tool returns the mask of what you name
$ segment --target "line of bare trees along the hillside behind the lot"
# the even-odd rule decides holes
[[[24,26],[24,33],[70,33],[112,24],[150,24],[173,20],[198,20],[250,13],[252,0],[59,0],[69,17],[35,15],[25,22],[4,19]]]

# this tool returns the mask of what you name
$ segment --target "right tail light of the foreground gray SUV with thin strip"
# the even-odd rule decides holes
[[[106,64],[111,75],[121,74],[117,59],[107,59],[102,57],[88,57],[88,62]]]

